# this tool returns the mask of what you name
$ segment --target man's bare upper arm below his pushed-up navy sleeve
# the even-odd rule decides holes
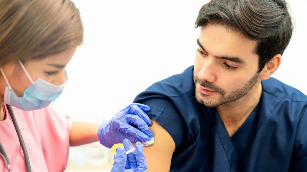
[[[148,172],[170,171],[170,162],[175,150],[175,142],[171,135],[155,120],[149,129],[154,133],[154,144],[144,147]]]

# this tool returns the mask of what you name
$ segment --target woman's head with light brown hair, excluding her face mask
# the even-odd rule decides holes
[[[80,13],[70,0],[0,1],[0,69],[18,96],[31,84],[19,60],[33,81],[61,85],[64,66],[82,42]],[[6,85],[1,77],[1,94]]]

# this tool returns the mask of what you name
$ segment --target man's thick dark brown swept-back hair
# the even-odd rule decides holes
[[[257,41],[258,72],[283,54],[293,30],[285,0],[211,0],[199,10],[195,27],[207,23],[226,25]]]

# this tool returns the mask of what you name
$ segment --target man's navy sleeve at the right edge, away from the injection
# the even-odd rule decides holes
[[[306,171],[307,169],[307,110],[304,108],[299,121],[293,148],[291,171]]]

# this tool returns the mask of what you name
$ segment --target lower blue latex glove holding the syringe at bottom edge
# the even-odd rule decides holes
[[[117,147],[116,155],[114,155],[114,164],[111,172],[145,172],[147,169],[147,164],[144,157],[143,145],[140,142],[137,142],[135,149],[137,154],[129,153],[126,154],[126,151],[132,146],[132,143],[125,139],[124,148]]]

